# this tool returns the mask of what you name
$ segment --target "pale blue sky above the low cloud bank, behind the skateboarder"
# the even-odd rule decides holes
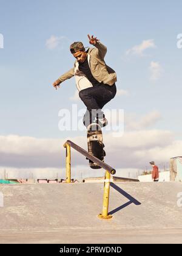
[[[106,44],[106,63],[118,76],[120,93],[106,108],[124,109],[126,132],[141,121],[139,130],[168,130],[181,140],[181,9],[181,1],[0,0],[0,135],[86,135],[58,129],[61,108],[84,108],[70,100],[74,78],[58,91],[52,82],[73,66],[69,45],[89,46],[87,34],[93,34]],[[53,49],[46,44],[51,37],[58,43]],[[143,121],[147,116],[149,124]]]

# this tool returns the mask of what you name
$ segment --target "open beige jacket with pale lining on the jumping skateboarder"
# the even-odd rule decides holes
[[[104,57],[106,55],[107,48],[100,42],[95,44],[95,48],[89,48],[87,50],[87,54],[89,55],[89,66],[90,70],[92,72],[93,77],[98,80],[98,82],[103,82],[103,84],[113,85],[116,82],[116,73],[115,71],[106,65],[104,62]],[[78,68],[78,60],[75,61],[74,67],[70,69],[67,73],[63,74],[59,77],[59,80],[61,82],[64,82],[67,79],[70,79],[71,77],[75,76],[76,79],[76,87],[79,91],[91,87],[92,84],[90,84],[89,80],[87,80],[84,73],[79,71]],[[83,80],[84,77],[84,87],[81,87],[79,83],[81,79]],[[87,81],[86,81],[87,80]]]

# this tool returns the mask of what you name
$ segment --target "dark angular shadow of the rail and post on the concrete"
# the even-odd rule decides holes
[[[127,207],[130,204],[135,204],[135,205],[140,205],[141,202],[137,201],[134,197],[130,196],[130,194],[126,193],[126,191],[122,190],[120,187],[116,186],[113,182],[110,182],[110,186],[118,191],[120,194],[123,194],[127,199],[129,199],[129,202],[126,204],[121,205],[120,207],[116,208],[115,210],[112,210],[111,212],[108,213],[108,215],[113,215],[116,212],[119,212],[123,208]]]

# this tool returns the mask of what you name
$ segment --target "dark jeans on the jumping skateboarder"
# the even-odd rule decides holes
[[[88,126],[96,118],[103,118],[104,113],[101,110],[107,102],[115,97],[116,85],[112,86],[101,84],[95,87],[86,88],[79,91],[79,98],[84,102],[87,111],[83,118],[83,123]]]

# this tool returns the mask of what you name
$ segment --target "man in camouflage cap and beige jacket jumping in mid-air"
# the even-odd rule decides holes
[[[89,43],[95,48],[86,51],[83,43],[74,42],[70,46],[70,52],[76,58],[74,66],[53,83],[57,88],[67,79],[75,76],[76,87],[79,90],[79,98],[87,107],[83,123],[87,127],[90,123],[98,123],[99,126],[107,125],[102,108],[115,97],[116,73],[106,65],[104,57],[107,52],[106,46],[99,42],[96,37],[89,37]]]

